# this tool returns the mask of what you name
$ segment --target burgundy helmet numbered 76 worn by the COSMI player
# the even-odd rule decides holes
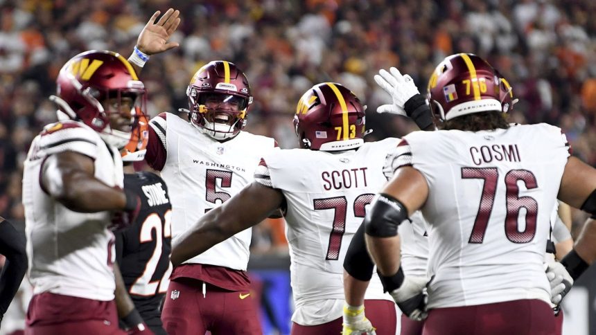
[[[428,100],[439,120],[502,111],[500,81],[487,61],[471,53],[446,57],[428,81]]]

